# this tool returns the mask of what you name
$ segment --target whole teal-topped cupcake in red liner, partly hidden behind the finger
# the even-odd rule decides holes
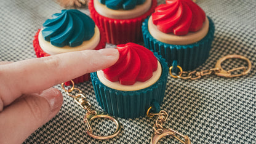
[[[33,46],[37,57],[86,49],[102,49],[106,45],[105,34],[92,18],[79,10],[62,10],[46,20],[34,36]],[[89,80],[85,74],[73,79],[75,83]],[[69,85],[70,82],[66,82]]]

